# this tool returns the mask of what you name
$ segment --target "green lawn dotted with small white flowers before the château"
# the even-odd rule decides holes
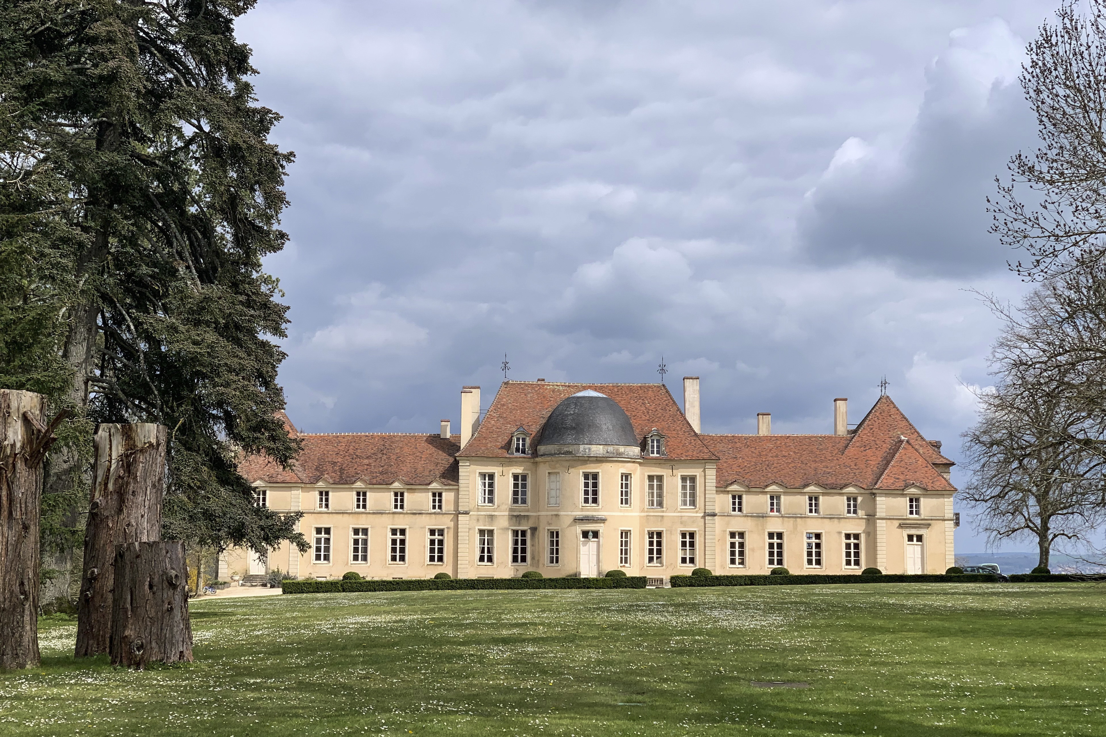
[[[1106,587],[427,591],[195,602],[195,664],[0,674],[2,735],[1103,735]],[[751,681],[808,682],[805,689]]]

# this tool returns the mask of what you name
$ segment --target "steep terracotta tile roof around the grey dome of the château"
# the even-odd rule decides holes
[[[618,402],[638,440],[656,428],[665,435],[666,457],[712,460],[714,454],[688,424],[684,412],[661,383],[564,383],[560,381],[504,381],[488,408],[476,435],[461,455],[503,457],[511,434],[520,427],[534,434],[532,446],[541,442],[541,428],[562,399],[592,389]]]

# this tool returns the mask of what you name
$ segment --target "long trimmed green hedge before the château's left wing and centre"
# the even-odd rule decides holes
[[[644,589],[644,576],[626,578],[405,578],[362,581],[284,581],[283,593],[356,591],[466,591],[517,589]]]

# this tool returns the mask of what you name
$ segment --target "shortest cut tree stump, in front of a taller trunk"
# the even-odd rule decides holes
[[[115,548],[112,665],[192,660],[185,544],[127,543]]]

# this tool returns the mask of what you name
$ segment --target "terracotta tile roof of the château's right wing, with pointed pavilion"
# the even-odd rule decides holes
[[[852,435],[701,435],[718,455],[717,486],[954,491],[933,464],[952,465],[890,397],[880,397]]]

